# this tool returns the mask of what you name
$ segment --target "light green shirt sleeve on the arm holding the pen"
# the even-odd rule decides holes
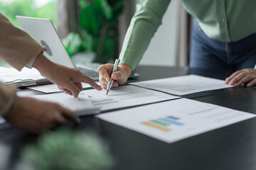
[[[161,19],[169,3],[170,0],[148,0],[141,1],[137,6],[137,12],[132,18],[119,55],[120,64],[129,65],[132,72],[139,64],[151,38],[161,25]]]

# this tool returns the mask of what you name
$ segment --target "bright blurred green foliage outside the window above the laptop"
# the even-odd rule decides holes
[[[49,18],[55,24],[57,0],[37,7],[33,0],[0,1],[0,12],[11,20],[14,26],[20,28],[16,16],[31,16],[36,18]]]

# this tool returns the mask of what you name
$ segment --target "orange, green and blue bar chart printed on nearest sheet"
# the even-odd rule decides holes
[[[184,125],[183,123],[178,121],[179,119],[180,118],[169,115],[164,118],[158,118],[158,119],[154,119],[154,120],[149,120],[147,122],[142,122],[142,124],[149,126],[151,128],[162,130],[164,132],[169,132],[169,131],[171,131],[171,128],[170,128],[171,125],[176,125],[176,126]]]

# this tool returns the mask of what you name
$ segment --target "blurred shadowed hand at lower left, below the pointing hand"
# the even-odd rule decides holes
[[[4,118],[15,128],[39,134],[55,125],[65,125],[67,119],[79,123],[80,119],[57,103],[38,101],[28,97],[14,97],[11,109]]]

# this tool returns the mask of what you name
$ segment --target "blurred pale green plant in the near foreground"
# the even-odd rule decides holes
[[[64,129],[44,133],[36,145],[23,149],[22,159],[34,170],[107,170],[117,163],[95,132]]]

